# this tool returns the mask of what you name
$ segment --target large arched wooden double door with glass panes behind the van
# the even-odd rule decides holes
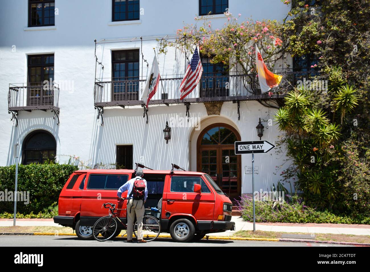
[[[241,194],[241,160],[235,155],[234,142],[240,135],[228,124],[206,127],[197,141],[197,171],[209,174],[233,201]]]

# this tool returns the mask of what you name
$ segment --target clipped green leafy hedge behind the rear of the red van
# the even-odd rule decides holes
[[[17,191],[29,191],[29,204],[18,201],[17,212],[38,214],[58,203],[59,194],[65,182],[76,170],[78,170],[77,166],[68,164],[20,164]],[[3,196],[6,189],[8,192],[14,192],[15,174],[15,165],[0,167],[0,191]],[[4,212],[14,212],[13,201],[1,199],[0,213]]]

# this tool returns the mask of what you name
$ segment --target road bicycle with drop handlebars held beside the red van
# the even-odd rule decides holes
[[[110,205],[110,206],[107,206]],[[127,230],[127,225],[123,224],[121,219],[117,216],[118,212],[114,212],[115,210],[127,210],[127,209],[116,209],[116,204],[113,203],[104,203],[101,208],[109,209],[108,215],[103,216],[95,222],[94,226],[92,227],[92,234],[94,239],[99,242],[107,241],[116,234],[118,223],[117,220],[124,226]],[[154,208],[155,209],[155,208]],[[117,219],[117,220],[116,220]],[[152,215],[144,215],[142,219],[142,234],[143,239],[147,242],[154,241],[161,232],[161,224],[157,218]],[[134,235],[137,237],[137,221],[134,223]]]

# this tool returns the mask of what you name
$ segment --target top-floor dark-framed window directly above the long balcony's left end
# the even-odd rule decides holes
[[[139,11],[139,0],[112,0],[112,21],[139,20]]]

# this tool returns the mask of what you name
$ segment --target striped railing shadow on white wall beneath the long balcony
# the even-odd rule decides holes
[[[140,162],[153,169],[171,169],[171,163],[175,163],[189,169],[189,139],[184,139],[184,135],[188,136],[193,128],[172,127],[168,144],[163,133],[166,121],[169,122],[171,117],[175,118],[177,115],[185,118],[185,106],[170,106],[176,107],[176,112],[171,109],[171,113],[164,113],[167,110],[164,107],[149,108],[148,124],[145,122],[146,118],[142,117],[142,108],[104,109],[104,126],[101,126],[100,120],[95,117],[89,166],[115,163],[116,146],[133,145],[133,164]]]

